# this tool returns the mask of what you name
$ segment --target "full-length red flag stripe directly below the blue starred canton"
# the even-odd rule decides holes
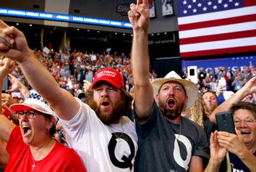
[[[227,25],[227,24],[236,24],[236,23],[241,23],[241,22],[254,22],[255,19],[256,19],[256,14],[251,14],[251,15],[240,16],[240,17],[231,17],[231,18],[227,18],[227,19],[210,20],[207,22],[195,22],[195,23],[191,23],[191,24],[180,24],[179,31],[195,30],[195,29],[200,29],[200,28],[204,28],[204,27],[223,26],[223,25]]]

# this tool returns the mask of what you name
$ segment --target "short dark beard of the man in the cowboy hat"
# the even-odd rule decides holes
[[[184,107],[182,104],[176,104],[176,109],[167,110],[165,106],[166,104],[163,104],[161,101],[158,102],[158,107],[160,108],[163,116],[167,119],[176,119],[177,117],[181,116],[182,109]]]

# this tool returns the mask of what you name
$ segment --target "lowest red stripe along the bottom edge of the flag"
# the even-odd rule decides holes
[[[202,50],[202,51],[193,51],[187,53],[180,53],[182,58],[189,58],[195,56],[207,56],[207,55],[221,55],[221,54],[229,54],[229,53],[242,53],[255,51],[256,45],[245,46],[245,47],[230,47],[230,48],[222,48],[216,50]]]

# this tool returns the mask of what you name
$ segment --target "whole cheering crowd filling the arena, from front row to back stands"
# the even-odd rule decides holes
[[[33,51],[0,21],[0,86],[8,76],[7,92],[18,93],[1,94],[4,171],[256,171],[253,63],[201,68],[197,85],[186,71],[158,78],[149,73],[148,0],[130,9],[130,59]],[[226,86],[215,84],[221,77]],[[235,133],[216,130],[216,113],[228,111]]]

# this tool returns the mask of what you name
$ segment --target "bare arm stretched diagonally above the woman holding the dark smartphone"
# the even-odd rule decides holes
[[[239,89],[239,91],[236,91],[236,93],[231,96],[229,99],[223,102],[223,104],[220,104],[211,114],[210,114],[210,121],[216,124],[216,117],[215,114],[217,112],[225,112],[229,111],[232,104],[238,103],[239,101],[242,101],[245,96],[248,94],[252,94],[256,92],[256,76],[252,77],[245,85],[242,87],[242,89]]]

